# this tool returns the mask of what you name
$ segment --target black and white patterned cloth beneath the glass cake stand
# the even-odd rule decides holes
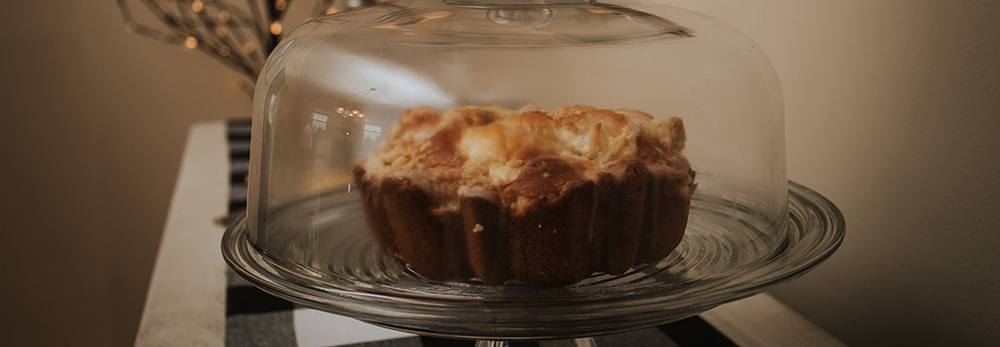
[[[230,160],[229,212],[246,209],[250,121],[227,123]],[[227,273],[226,346],[472,347],[474,341],[416,336],[295,305]],[[599,346],[736,346],[700,317],[632,332],[597,336]],[[511,346],[538,346],[519,342]]]

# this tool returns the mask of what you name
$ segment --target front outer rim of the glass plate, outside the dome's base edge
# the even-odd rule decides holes
[[[821,194],[789,181],[789,226],[784,247],[766,262],[731,277],[695,284],[681,295],[644,291],[594,300],[475,301],[463,297],[398,295],[331,285],[309,269],[276,260],[248,237],[246,217],[226,230],[226,263],[256,287],[335,314],[424,335],[466,338],[565,338],[653,326],[760,293],[797,278],[829,258],[843,242],[843,214]],[[396,295],[393,295],[396,294]]]

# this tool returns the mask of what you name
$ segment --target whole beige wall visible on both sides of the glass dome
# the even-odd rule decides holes
[[[852,345],[1000,340],[1000,3],[662,1],[758,40],[790,178],[847,216],[841,250],[772,293]],[[110,0],[0,11],[11,345],[130,345],[187,127],[248,116],[235,74],[121,28]]]

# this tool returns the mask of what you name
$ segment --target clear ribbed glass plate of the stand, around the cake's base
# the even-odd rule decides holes
[[[290,249],[310,250],[292,263],[255,247],[244,216],[222,239],[226,262],[258,288],[307,307],[420,335],[481,341],[573,339],[694,316],[801,276],[833,254],[845,231],[833,203],[794,182],[789,182],[783,240],[769,240],[776,236],[761,230],[770,221],[740,204],[740,197],[701,189],[684,241],[660,262],[621,276],[595,274],[565,287],[511,282],[490,287],[429,281],[383,259],[365,230],[357,199],[320,201],[337,211],[331,217],[337,223],[357,224],[356,232],[322,235],[313,229],[280,240]],[[300,203],[311,208],[296,209],[293,203],[279,218],[294,225],[316,217],[305,213],[324,211],[315,201]],[[357,217],[345,222],[342,214],[352,208]]]

